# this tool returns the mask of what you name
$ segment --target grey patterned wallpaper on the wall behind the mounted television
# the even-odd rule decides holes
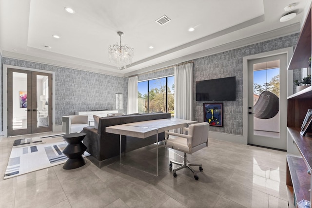
[[[224,127],[210,127],[210,131],[243,135],[243,57],[295,46],[298,38],[293,34],[193,60],[194,92],[196,81],[236,76],[236,100],[223,101]],[[206,102],[194,102],[194,119],[202,122]]]

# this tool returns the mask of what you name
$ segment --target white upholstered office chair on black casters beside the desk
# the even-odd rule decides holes
[[[201,164],[188,163],[186,153],[192,154],[193,152],[208,146],[209,123],[203,122],[191,124],[189,128],[183,128],[183,132],[186,131],[188,132],[188,134],[165,132],[166,147],[184,152],[183,163],[170,161],[169,167],[170,169],[172,169],[173,163],[180,165],[179,167],[173,170],[175,178],[176,178],[176,170],[188,168],[193,172],[195,180],[198,180],[198,176],[195,170],[191,168],[191,166],[199,166],[199,170],[203,171]],[[175,137],[169,138],[168,135],[173,135]]]

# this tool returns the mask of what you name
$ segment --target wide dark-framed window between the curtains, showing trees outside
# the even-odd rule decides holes
[[[175,115],[175,76],[138,82],[137,91],[138,113]]]

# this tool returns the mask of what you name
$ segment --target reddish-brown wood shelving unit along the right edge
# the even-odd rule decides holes
[[[311,9],[301,30],[288,70],[308,67],[311,57]],[[302,199],[311,202],[312,177],[312,133],[300,135],[301,125],[309,108],[312,109],[312,86],[288,97],[287,130],[297,146],[301,157],[287,156],[286,185],[289,207],[296,207]]]

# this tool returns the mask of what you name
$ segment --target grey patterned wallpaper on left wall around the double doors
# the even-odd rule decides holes
[[[126,113],[128,78],[103,75],[30,61],[2,58],[3,64],[56,72],[56,125],[62,124],[63,115],[93,109],[116,109],[115,94],[123,94],[123,110]]]

